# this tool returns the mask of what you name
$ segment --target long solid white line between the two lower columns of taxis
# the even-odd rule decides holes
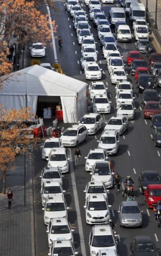
[[[70,155],[70,176],[71,176],[71,181],[72,181],[72,187],[73,187],[73,196],[74,196],[74,202],[75,202],[75,210],[77,212],[77,222],[78,222],[78,229],[79,229],[79,235],[81,237],[80,239],[80,247],[81,247],[81,252],[82,255],[87,255],[86,254],[86,247],[85,247],[85,240],[84,240],[84,233],[83,233],[83,226],[82,226],[82,220],[81,220],[81,214],[80,214],[80,207],[79,207],[79,197],[78,197],[78,192],[77,192],[77,186],[76,186],[76,181],[75,181],[75,175],[74,175],[74,169],[73,169],[73,164],[72,164],[72,151],[69,149],[69,155]]]

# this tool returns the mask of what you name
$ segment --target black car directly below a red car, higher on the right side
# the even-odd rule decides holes
[[[149,84],[151,83],[151,89],[155,88],[154,77],[151,74],[140,74],[138,76],[137,88],[138,92],[143,92],[145,89],[148,89]]]

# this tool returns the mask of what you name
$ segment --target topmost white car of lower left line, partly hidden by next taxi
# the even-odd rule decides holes
[[[44,142],[44,145],[41,146],[42,152],[41,152],[41,157],[42,159],[48,160],[49,159],[49,154],[52,148],[60,148],[60,140],[59,138],[49,138],[46,139]]]

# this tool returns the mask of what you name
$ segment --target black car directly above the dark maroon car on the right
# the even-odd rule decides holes
[[[141,98],[141,103],[145,106],[147,101],[160,101],[159,94],[155,89],[144,90]]]

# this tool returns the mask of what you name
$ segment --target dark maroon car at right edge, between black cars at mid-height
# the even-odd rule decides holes
[[[148,101],[144,107],[144,118],[152,118],[155,114],[161,114],[161,105],[158,101]]]

